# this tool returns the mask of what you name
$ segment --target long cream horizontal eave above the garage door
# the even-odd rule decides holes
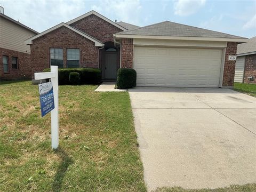
[[[158,35],[130,35],[115,34],[115,38],[146,38],[146,39],[174,39],[190,41],[221,41],[221,42],[248,42],[248,38],[223,38],[223,37],[186,37],[186,36],[158,36]]]

